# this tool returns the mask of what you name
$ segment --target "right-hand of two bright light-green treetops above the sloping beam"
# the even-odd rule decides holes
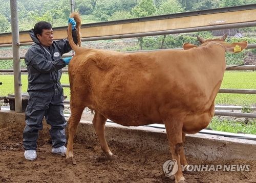
[[[156,11],[156,15],[183,12],[185,9],[177,0],[167,0],[163,2]]]

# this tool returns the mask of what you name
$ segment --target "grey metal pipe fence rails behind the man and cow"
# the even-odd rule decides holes
[[[16,0],[11,1],[11,2],[14,2],[13,5],[11,3],[11,9],[16,8],[16,4],[15,4]],[[71,11],[74,10],[74,3],[73,2],[74,1],[71,0]],[[17,12],[14,12],[12,14],[12,16],[14,16],[14,17],[17,16]],[[12,18],[12,25],[14,25],[14,24],[15,24],[15,18]],[[155,31],[155,32],[120,34],[120,35],[100,36],[100,37],[88,37],[88,38],[82,38],[81,41],[97,41],[97,40],[107,40],[107,39],[134,38],[134,37],[144,37],[144,36],[180,34],[180,33],[212,31],[212,30],[220,30],[220,29],[232,29],[232,28],[245,28],[245,27],[255,27],[255,26],[256,26],[256,21],[253,21],[253,22],[243,22],[243,23],[210,25],[210,26],[197,27],[197,28],[185,28],[185,29],[164,30],[164,31]],[[14,28],[13,32],[16,32],[15,29],[18,30],[18,28],[15,28],[15,27],[13,27],[13,28]],[[66,29],[66,28],[59,28],[59,29]],[[18,36],[18,34],[17,34],[17,36]],[[0,45],[0,47],[10,47],[10,46],[15,47],[15,44],[18,47],[19,46],[28,46],[28,45],[31,45],[33,43],[33,42],[19,43],[18,38],[16,38],[16,37],[13,37],[12,42],[13,42],[13,44],[2,44],[2,45]],[[248,44],[246,49],[253,49],[253,48],[256,48],[256,44]],[[182,48],[176,48],[176,49],[182,49]],[[156,50],[138,50],[138,51],[150,52],[150,51],[156,51]],[[132,53],[132,52],[138,52],[138,51],[125,51],[125,52]],[[18,55],[18,57],[17,57],[17,55]],[[70,54],[63,55],[63,57],[70,57],[70,56],[72,56],[72,55],[70,55]],[[18,59],[19,60],[19,59],[24,59],[24,57],[20,57],[19,53],[16,53],[15,56],[13,55],[13,57],[0,57],[0,60],[12,60],[12,59],[16,59],[16,60]],[[256,65],[232,65],[232,66],[226,66],[226,70],[253,70],[254,71],[254,70],[256,70]],[[12,69],[1,69],[0,70],[0,72],[13,72],[13,71],[14,71],[14,75],[17,74],[17,73],[19,74],[19,76],[16,75],[16,77],[20,77],[20,73],[21,72],[27,72],[27,69],[20,69],[20,68],[17,68],[15,66],[14,70],[12,70]],[[68,72],[68,69],[62,69],[62,71],[63,72]],[[15,82],[15,85],[16,84],[21,85],[21,83]],[[70,86],[69,85],[62,85],[62,87],[70,87]],[[219,93],[256,94],[256,90],[220,89]],[[17,97],[19,97],[19,92],[18,91],[15,90],[15,94],[18,95]],[[22,97],[20,97],[20,99],[21,98]],[[15,96],[15,100],[17,100],[16,96]],[[70,101],[65,100],[65,103],[70,103]],[[16,109],[19,109],[19,107],[17,106]],[[256,114],[223,112],[223,111],[217,111],[217,110],[215,111],[215,115],[256,118]]]

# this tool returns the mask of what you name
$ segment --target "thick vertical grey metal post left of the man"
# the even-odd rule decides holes
[[[15,112],[22,112],[22,82],[19,56],[19,32],[17,0],[10,0],[12,25],[12,56],[14,75]]]

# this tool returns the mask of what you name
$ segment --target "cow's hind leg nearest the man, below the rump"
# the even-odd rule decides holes
[[[66,161],[72,162],[74,165],[76,164],[74,158],[73,158],[73,143],[74,143],[74,136],[76,133],[77,125],[81,119],[82,112],[84,110],[83,107],[72,107],[73,105],[70,105],[71,108],[71,117],[69,118],[69,140],[67,145],[67,151],[66,151]]]

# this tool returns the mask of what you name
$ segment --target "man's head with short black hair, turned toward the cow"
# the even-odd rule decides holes
[[[44,46],[51,46],[53,43],[53,30],[51,23],[39,21],[34,26],[34,33],[40,43]]]

